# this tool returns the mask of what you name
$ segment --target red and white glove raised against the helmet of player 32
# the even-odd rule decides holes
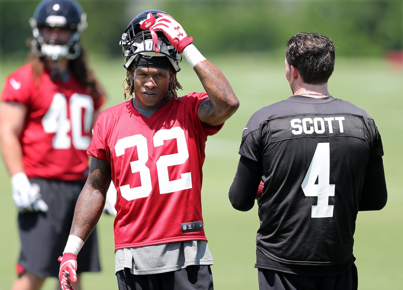
[[[182,26],[172,17],[165,13],[158,12],[159,18],[155,20],[154,25],[150,27],[150,30],[162,31],[169,42],[179,53],[183,52],[183,48],[191,44],[193,37],[187,36]]]

